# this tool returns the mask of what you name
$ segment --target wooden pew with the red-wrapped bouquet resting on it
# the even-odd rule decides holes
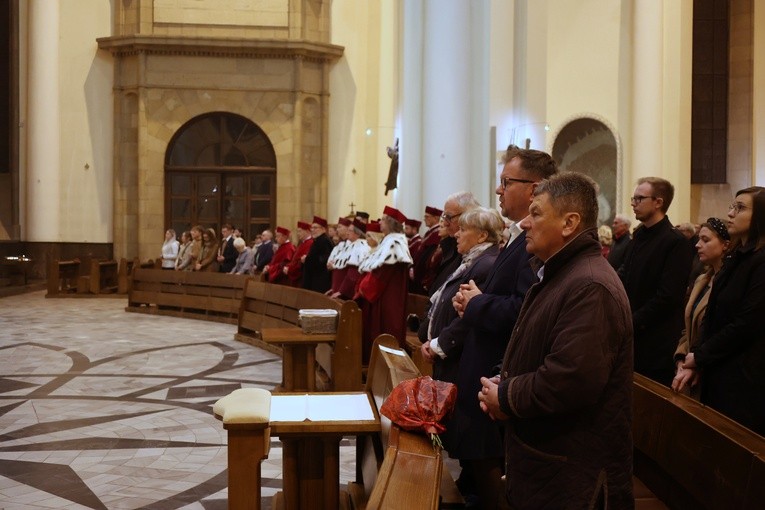
[[[366,390],[377,409],[401,381],[419,377],[411,358],[391,335],[372,346]],[[354,509],[463,508],[440,450],[425,434],[408,432],[380,415],[381,433],[356,439],[356,482],[348,484]]]

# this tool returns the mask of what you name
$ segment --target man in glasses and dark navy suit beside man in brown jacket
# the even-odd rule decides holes
[[[461,356],[467,342],[481,343],[480,349],[470,350],[475,356],[460,360],[457,405],[448,425],[456,429],[452,437],[460,438],[448,445],[449,455],[460,459],[467,475],[461,479],[475,484],[473,490],[480,497],[481,508],[494,508],[496,494],[502,493],[504,458],[501,431],[481,412],[476,400],[480,376],[491,376],[493,367],[502,361],[526,291],[537,280],[529,265],[526,234],[518,223],[528,215],[537,183],[558,171],[549,154],[514,146],[508,148],[503,162],[496,193],[502,214],[515,222],[510,241],[494,262],[483,289],[472,280],[462,286],[454,298],[460,318],[442,329],[438,337],[446,357]],[[423,354],[432,355],[428,349]]]

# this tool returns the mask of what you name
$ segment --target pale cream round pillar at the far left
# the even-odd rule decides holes
[[[61,241],[59,3],[29,1],[27,175],[24,239]]]

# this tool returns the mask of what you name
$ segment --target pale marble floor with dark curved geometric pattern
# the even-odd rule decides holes
[[[281,359],[236,327],[124,311],[124,298],[0,298],[0,508],[224,509],[226,434],[212,404],[271,389]],[[353,439],[341,481],[353,477]],[[263,463],[263,506],[281,448]]]

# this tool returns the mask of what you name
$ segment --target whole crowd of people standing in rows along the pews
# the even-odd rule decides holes
[[[422,221],[392,207],[314,216],[297,245],[284,227],[257,248],[230,225],[179,246],[168,231],[163,268],[353,299],[364,362],[381,333],[404,346],[407,294],[427,295],[421,353],[458,391],[442,439],[480,508],[631,508],[633,372],[765,435],[765,188],[684,235],[673,185],[644,177],[637,227],[617,214],[599,231],[594,181],[510,147],[496,194],[501,216],[468,192]]]

